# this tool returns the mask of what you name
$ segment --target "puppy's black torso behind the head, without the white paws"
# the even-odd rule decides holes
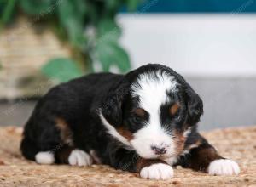
[[[68,145],[87,153],[95,150],[102,163],[109,164],[106,153],[115,140],[102,126],[97,109],[121,77],[111,73],[91,74],[51,89],[38,101],[26,123],[21,144],[24,156],[34,160],[38,152],[58,152]],[[55,162],[63,162],[58,156],[55,158]]]

